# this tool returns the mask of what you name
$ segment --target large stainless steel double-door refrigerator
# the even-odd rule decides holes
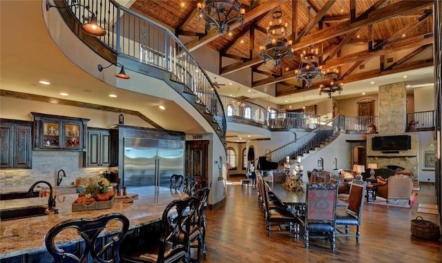
[[[184,175],[184,141],[124,138],[124,186],[169,187],[174,173]]]

